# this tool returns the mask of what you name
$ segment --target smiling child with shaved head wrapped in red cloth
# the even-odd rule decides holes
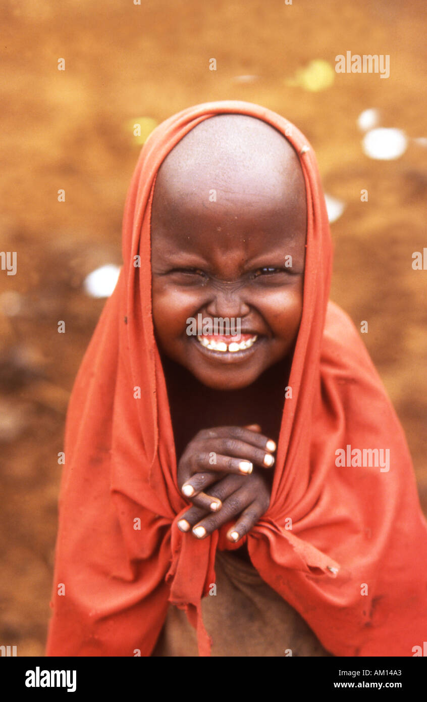
[[[69,404],[48,655],[422,646],[427,524],[331,262],[283,117],[212,102],[151,133]]]

